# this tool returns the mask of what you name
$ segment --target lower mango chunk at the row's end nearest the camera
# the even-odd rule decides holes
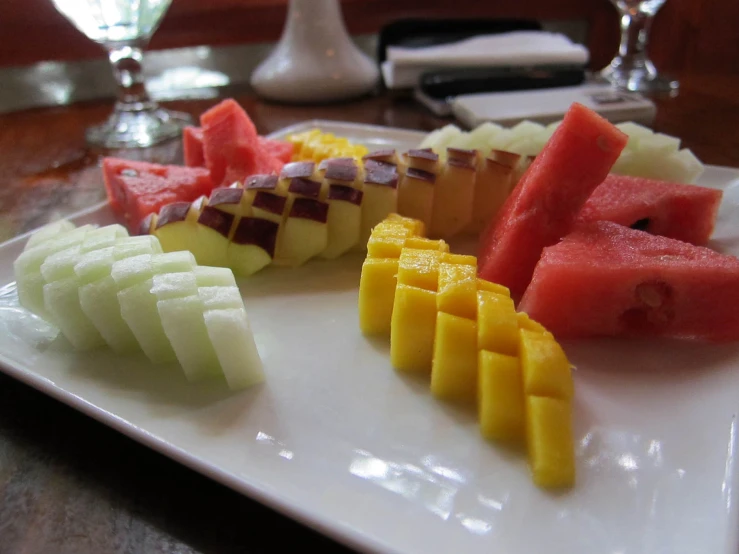
[[[544,488],[575,484],[575,444],[569,402],[527,396],[526,442],[534,483]]]

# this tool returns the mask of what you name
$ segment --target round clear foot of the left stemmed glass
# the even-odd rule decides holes
[[[177,138],[192,118],[164,108],[144,111],[115,110],[102,125],[85,133],[88,144],[103,148],[146,148]]]

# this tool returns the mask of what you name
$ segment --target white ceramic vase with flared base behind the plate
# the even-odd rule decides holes
[[[290,0],[285,28],[251,85],[269,100],[345,100],[374,89],[377,65],[349,37],[339,0]]]

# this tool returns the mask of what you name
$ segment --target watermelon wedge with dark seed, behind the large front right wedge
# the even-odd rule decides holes
[[[708,242],[722,192],[698,185],[609,175],[585,202],[577,224],[613,221],[691,244]]]

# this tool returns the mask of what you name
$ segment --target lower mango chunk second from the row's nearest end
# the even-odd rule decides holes
[[[526,408],[518,358],[480,350],[478,372],[478,417],[482,436],[523,443]]]

